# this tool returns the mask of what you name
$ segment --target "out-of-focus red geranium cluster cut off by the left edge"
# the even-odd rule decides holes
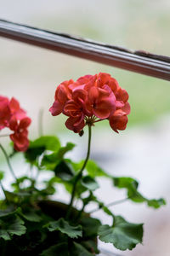
[[[31,119],[26,116],[26,112],[20,108],[20,103],[12,98],[0,96],[0,131],[8,127],[14,131],[10,135],[14,142],[14,149],[26,151],[29,146],[27,127],[31,124]]]

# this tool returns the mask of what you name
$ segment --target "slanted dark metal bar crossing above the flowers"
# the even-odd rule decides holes
[[[0,20],[0,36],[170,81],[170,58]]]

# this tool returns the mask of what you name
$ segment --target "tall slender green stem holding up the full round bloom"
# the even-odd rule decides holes
[[[82,169],[77,173],[77,176],[75,177],[75,181],[73,183],[73,189],[72,189],[72,193],[71,193],[71,202],[69,204],[68,211],[66,213],[66,218],[70,217],[71,207],[72,207],[72,204],[73,204],[73,201],[74,201],[74,198],[75,198],[75,194],[76,194],[77,182],[81,179],[82,172],[83,172],[84,168],[86,167],[86,165],[88,163],[88,158],[89,158],[89,155],[90,155],[91,137],[92,137],[92,126],[88,125],[88,153],[87,153],[86,159],[85,159],[85,161],[82,165]]]

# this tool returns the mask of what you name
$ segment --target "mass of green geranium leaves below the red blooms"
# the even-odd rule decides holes
[[[94,190],[99,189],[97,178],[111,179],[116,188],[127,190],[127,199],[133,202],[145,202],[149,207],[159,208],[165,201],[145,198],[139,193],[139,183],[135,179],[112,177],[94,160],[88,160],[82,172],[84,160],[76,163],[65,158],[74,147],[73,143],[61,147],[58,137],[40,137],[30,143],[24,154],[31,166],[29,175],[18,177],[12,183],[12,191],[4,189],[3,181],[0,182],[5,195],[0,201],[0,255],[93,256],[99,253],[97,236],[120,250],[132,250],[142,242],[143,224],[128,223],[121,216],[115,216],[94,195]],[[39,186],[42,171],[48,171],[52,176],[40,179]],[[1,180],[3,172],[0,172]],[[58,184],[71,194],[75,183],[74,199],[77,197],[81,201],[80,210],[50,200],[50,195],[58,190]],[[86,213],[86,207],[92,201],[97,205],[92,212],[103,210],[112,219],[112,226],[101,224],[99,219]]]

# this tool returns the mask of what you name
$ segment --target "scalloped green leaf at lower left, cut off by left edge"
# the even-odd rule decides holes
[[[12,236],[21,236],[26,233],[24,221],[18,216],[8,216],[0,219],[0,237],[11,240]]]

